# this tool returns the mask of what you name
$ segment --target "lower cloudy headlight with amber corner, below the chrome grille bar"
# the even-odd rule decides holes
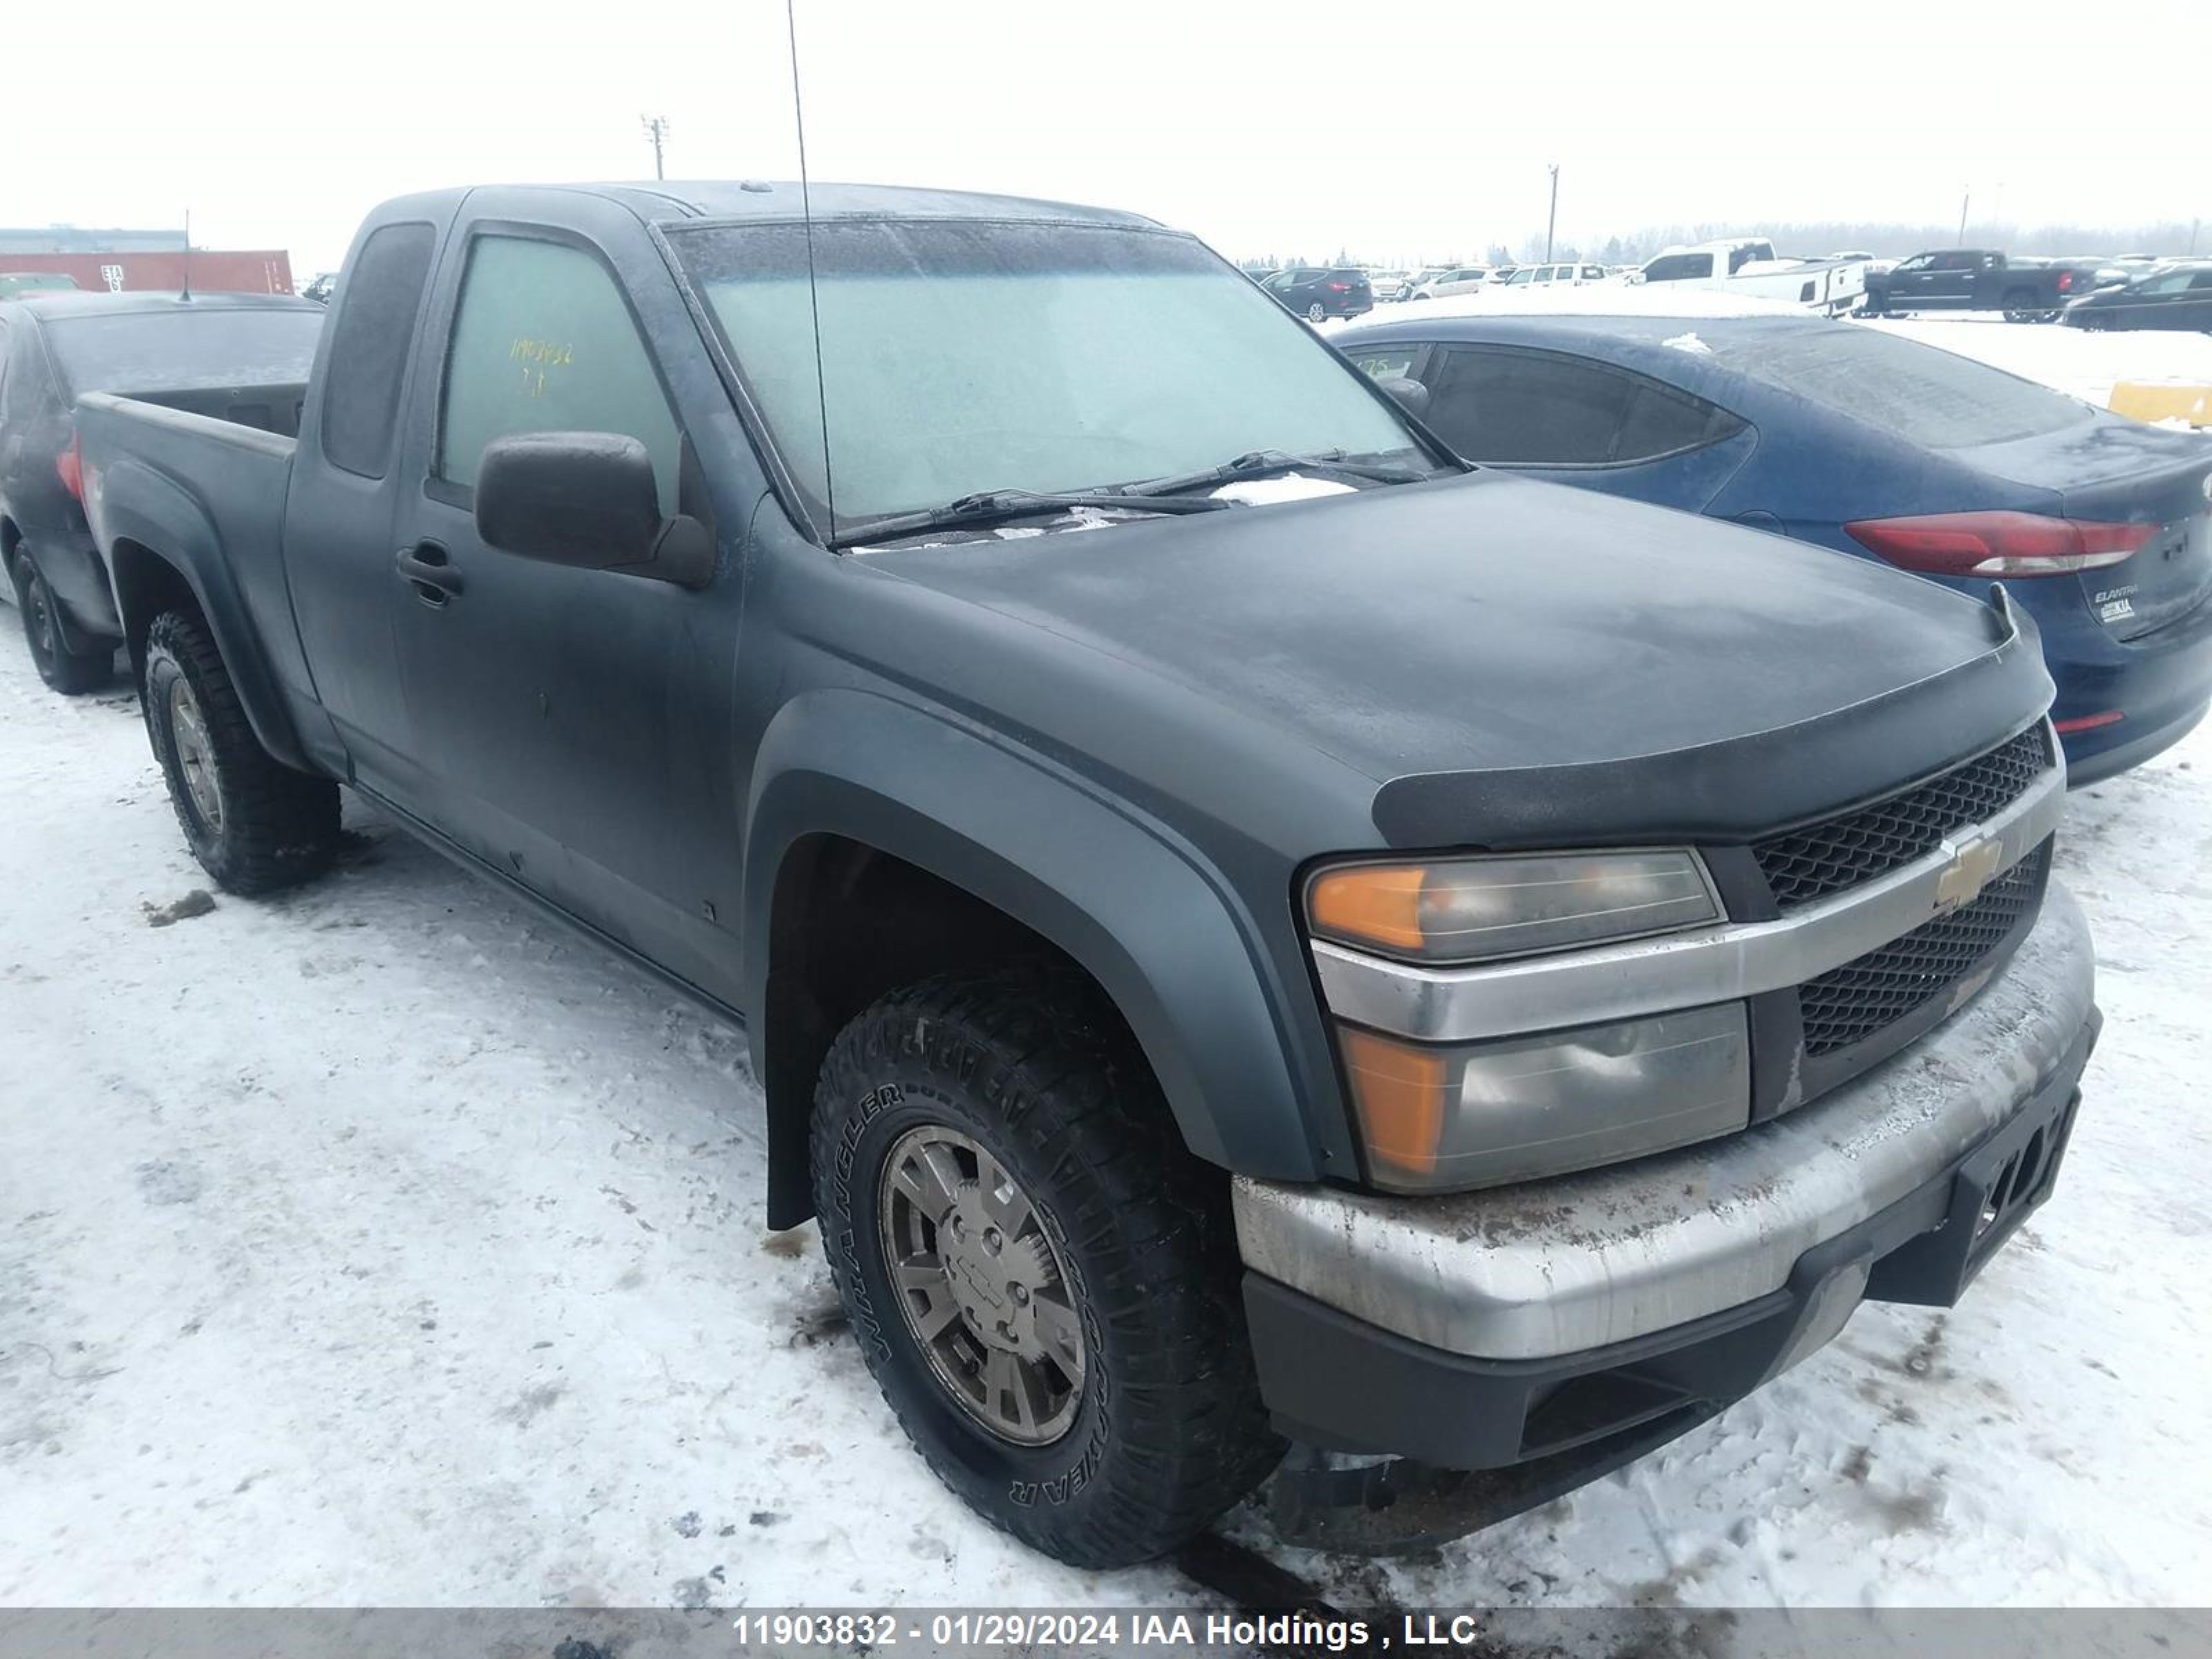
[[[1391,1192],[1564,1175],[1728,1135],[1752,1115],[1741,1002],[1537,1037],[1431,1046],[1338,1026],[1367,1141]]]

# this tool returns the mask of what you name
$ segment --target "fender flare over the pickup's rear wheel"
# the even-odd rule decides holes
[[[221,535],[199,500],[168,473],[126,456],[111,462],[102,476],[97,531],[100,553],[115,584],[115,613],[124,619],[124,628],[131,626],[135,577],[126,568],[128,562],[115,557],[117,542],[144,549],[184,580],[215,635],[215,648],[230,670],[230,684],[237,686],[246,721],[261,739],[261,748],[285,765],[312,772],[314,763],[292,728],[230,560],[223,557]],[[144,668],[142,639],[131,641],[131,655]]]

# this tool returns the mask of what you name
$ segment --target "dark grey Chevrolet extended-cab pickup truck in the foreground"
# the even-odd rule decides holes
[[[2002,597],[1402,407],[1146,219],[670,184],[380,208],[296,440],[77,422],[212,876],[345,783],[743,1020],[916,1447],[1113,1564],[1953,1301],[2095,1040]]]

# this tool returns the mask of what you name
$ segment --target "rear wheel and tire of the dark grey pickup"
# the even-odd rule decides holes
[[[177,823],[223,891],[319,876],[338,847],[338,785],[261,748],[206,622],[164,611],[146,633],[146,734]]]

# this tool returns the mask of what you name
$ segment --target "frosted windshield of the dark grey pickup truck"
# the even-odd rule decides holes
[[[670,237],[810,509],[836,529],[980,491],[1082,491],[1256,449],[1427,462],[1305,323],[1190,237],[1022,221]],[[827,480],[825,480],[827,471]]]

